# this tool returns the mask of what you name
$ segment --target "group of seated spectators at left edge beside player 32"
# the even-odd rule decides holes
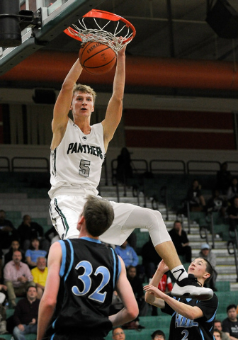
[[[0,334],[13,334],[15,340],[36,334],[49,249],[50,238],[30,215],[15,227],[0,210]],[[7,308],[13,310],[8,318]]]

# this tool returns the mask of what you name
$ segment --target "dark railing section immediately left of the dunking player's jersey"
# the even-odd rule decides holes
[[[19,162],[20,161],[20,162]],[[21,161],[26,161],[27,164],[23,164]],[[29,162],[32,162],[33,165],[30,165]],[[42,162],[42,165],[38,165]],[[13,157],[11,159],[11,171],[47,171],[50,172],[50,162],[45,157]]]

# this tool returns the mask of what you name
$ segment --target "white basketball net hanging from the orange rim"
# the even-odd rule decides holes
[[[123,27],[119,28],[120,22],[118,21],[115,30],[113,33],[108,32],[104,30],[106,26],[108,26],[111,21],[109,20],[106,25],[103,27],[98,25],[98,22],[96,21],[96,18],[94,18],[94,22],[96,23],[97,28],[87,28],[86,24],[84,23],[84,18],[79,19],[79,23],[82,28],[79,28],[77,25],[74,26],[74,29],[71,27],[68,28],[69,32],[72,35],[77,35],[79,38],[81,38],[81,41],[89,42],[89,41],[96,41],[101,42],[101,44],[107,45],[108,47],[111,47],[111,49],[117,54],[118,51],[120,51],[125,45],[128,44],[132,40],[132,30],[130,26],[128,26],[126,23]],[[123,32],[126,34],[124,37],[121,36]],[[131,38],[131,39],[130,39]],[[125,41],[127,40],[127,41]]]

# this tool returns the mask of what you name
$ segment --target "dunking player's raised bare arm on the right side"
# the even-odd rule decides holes
[[[103,120],[104,145],[107,149],[116,128],[122,118],[123,96],[125,89],[125,47],[118,52],[117,65],[113,81],[113,95],[108,103],[106,116]]]

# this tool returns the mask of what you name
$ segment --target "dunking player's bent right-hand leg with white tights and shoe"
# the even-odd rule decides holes
[[[113,225],[102,235],[105,242],[122,244],[135,228],[148,229],[154,247],[159,256],[164,259],[174,278],[176,284],[172,293],[176,296],[188,295],[199,297],[200,300],[212,297],[213,292],[209,288],[200,288],[196,279],[188,278],[188,273],[181,264],[171,237],[166,229],[162,215],[157,210],[141,208],[127,203],[112,203],[115,218]],[[108,239],[107,239],[108,238]],[[183,289],[183,286],[186,288]],[[181,292],[179,288],[181,287]]]

